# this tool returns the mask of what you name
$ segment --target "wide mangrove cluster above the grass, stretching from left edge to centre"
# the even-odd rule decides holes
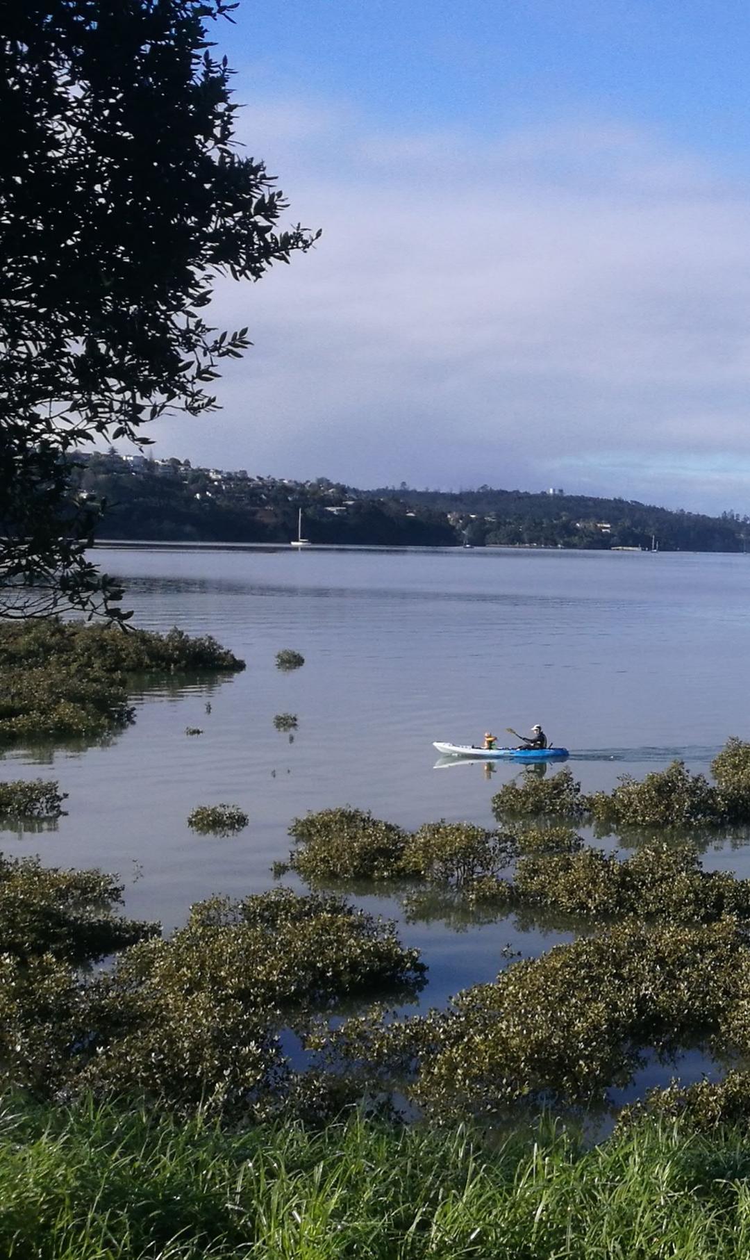
[[[24,862],[3,874],[0,1081],[42,1095],[274,1109],[293,1081],[284,1024],[303,1031],[341,999],[423,983],[393,925],[340,897],[211,898],[162,940],[154,925],[96,912],[121,892],[99,872]],[[112,950],[113,968],[83,985],[76,964]]]

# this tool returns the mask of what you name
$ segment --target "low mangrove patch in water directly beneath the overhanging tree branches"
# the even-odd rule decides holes
[[[0,625],[0,737],[97,737],[132,721],[128,677],[232,672],[210,635],[160,635],[58,619]]]

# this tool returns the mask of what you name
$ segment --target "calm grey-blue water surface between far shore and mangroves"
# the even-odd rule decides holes
[[[166,927],[211,892],[269,887],[291,819],[310,809],[492,824],[490,799],[517,770],[434,769],[433,740],[541,722],[575,750],[588,790],[676,753],[706,769],[730,733],[749,733],[750,557],[201,548],[97,559],[125,578],[138,625],[214,634],[248,668],[138,697],[136,724],[108,746],[8,753],[11,777],[59,779],[68,816],[0,839],[50,864],[118,871],[128,911]],[[278,672],[279,648],[302,651],[305,668]],[[298,714],[292,743],[273,727],[279,712]],[[215,801],[242,805],[249,828],[190,832],[190,810]],[[706,864],[750,874],[749,853],[717,844]],[[400,917],[395,901],[360,900]],[[506,944],[534,954],[570,939],[512,920],[463,932],[405,924],[401,936],[429,965],[429,1003],[493,978]]]

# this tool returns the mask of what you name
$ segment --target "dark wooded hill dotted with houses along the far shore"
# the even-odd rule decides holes
[[[447,493],[404,484],[361,490],[326,478],[293,481],[244,470],[191,467],[141,455],[76,456],[74,491],[106,500],[101,539],[313,543],[445,547],[658,547],[661,551],[737,552],[747,517],[671,512],[628,499],[561,491]]]

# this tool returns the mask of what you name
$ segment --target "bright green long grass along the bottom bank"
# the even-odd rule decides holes
[[[750,1145],[641,1123],[561,1130],[364,1120],[227,1133],[201,1118],[31,1109],[0,1121],[0,1255],[39,1260],[722,1260],[750,1250]]]

